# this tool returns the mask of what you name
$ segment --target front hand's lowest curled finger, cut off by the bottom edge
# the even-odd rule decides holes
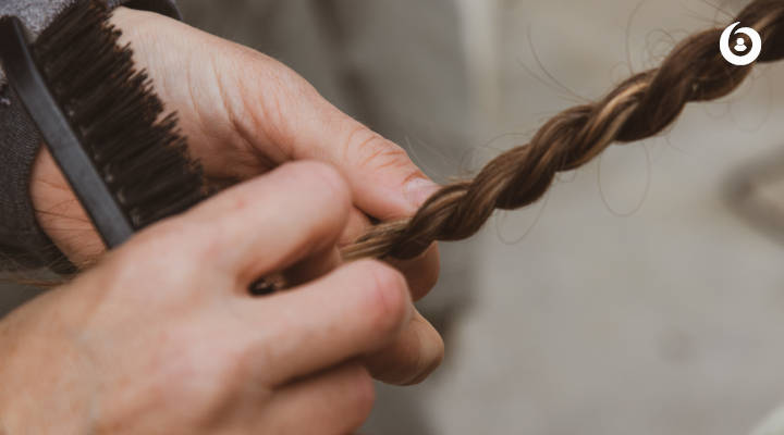
[[[275,391],[265,410],[265,433],[345,435],[370,415],[376,391],[359,363],[346,363]]]

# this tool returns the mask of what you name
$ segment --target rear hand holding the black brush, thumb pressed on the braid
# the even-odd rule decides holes
[[[370,217],[412,215],[438,188],[401,147],[342,113],[280,62],[154,13],[120,8],[112,23],[167,110],[177,112],[189,151],[210,179],[247,179],[293,160],[327,162],[347,181],[354,199],[343,244],[360,235]],[[72,261],[85,264],[102,253],[46,150],[33,170],[32,196],[41,227]],[[394,265],[418,300],[438,278],[438,248]],[[402,337],[368,366],[389,383],[419,382],[441,361],[443,343],[419,314]],[[413,372],[418,375],[411,377]]]

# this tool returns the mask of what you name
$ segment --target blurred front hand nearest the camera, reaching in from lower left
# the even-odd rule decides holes
[[[346,434],[363,358],[413,316],[405,278],[334,248],[352,199],[284,165],[139,233],[0,322],[0,433]],[[254,298],[258,276],[309,284]]]

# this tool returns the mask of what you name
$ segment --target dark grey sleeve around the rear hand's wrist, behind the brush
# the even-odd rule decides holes
[[[0,16],[19,16],[38,35],[59,12],[76,0],[0,0]],[[175,18],[174,0],[107,0],[158,12]],[[0,270],[65,264],[62,253],[36,222],[29,198],[33,161],[41,138],[33,122],[5,84],[0,69]]]

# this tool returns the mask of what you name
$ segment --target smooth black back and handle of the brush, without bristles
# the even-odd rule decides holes
[[[25,29],[15,16],[0,20],[0,60],[49,151],[109,249],[134,234],[128,217],[103,183],[78,136],[33,60]]]

